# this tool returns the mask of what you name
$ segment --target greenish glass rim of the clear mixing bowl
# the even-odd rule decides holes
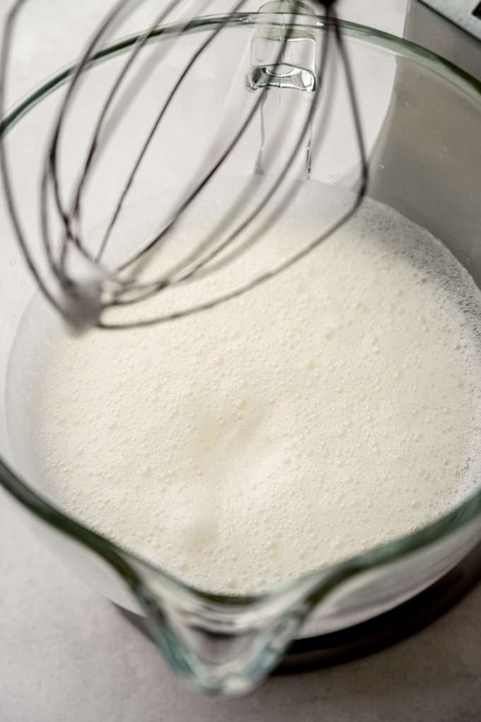
[[[306,29],[314,30],[328,30],[333,25],[332,19],[317,15],[298,15],[294,19],[291,16],[290,22],[295,23],[296,27],[305,27]],[[357,23],[347,21],[337,21],[341,31],[348,38],[354,38],[356,40],[362,40],[366,44],[374,45],[387,51],[391,51],[397,56],[415,61],[417,64],[424,66],[426,69],[436,72],[441,77],[444,77],[446,81],[455,84],[460,90],[466,92],[477,103],[480,105],[481,111],[481,82],[478,82],[474,77],[470,76],[466,71],[447,61],[445,58],[436,55],[426,48],[420,45],[405,40],[404,38],[398,38],[395,35],[390,35],[387,32],[376,30],[374,28],[358,25]],[[160,25],[154,30],[149,38],[149,43],[158,42],[175,35],[186,35],[187,33],[200,32],[208,30],[209,28],[224,24],[226,29],[232,27],[262,27],[262,25],[279,25],[278,14],[272,13],[261,13],[261,12],[247,12],[247,13],[236,13],[231,15],[211,15],[193,19],[187,25],[185,22],[174,23],[170,25]],[[285,17],[282,20],[282,25],[285,27]],[[138,37],[142,35],[142,32],[136,32],[133,35],[128,35],[115,43],[102,46],[92,56],[92,59],[87,64],[87,69],[101,64],[103,61],[107,61],[115,56],[128,51],[128,48],[136,43]],[[56,71],[50,78],[41,82],[34,90],[30,91],[16,103],[11,110],[9,110],[4,118],[0,120],[0,139],[3,138],[14,126],[22,119],[25,114],[30,112],[37,103],[40,103],[45,97],[48,97],[51,93],[65,84],[69,75],[75,68],[76,64],[71,63],[68,66]],[[284,583],[281,586],[269,589],[268,591],[252,595],[252,596],[235,596],[235,595],[224,595],[224,594],[213,594],[204,591],[199,588],[190,586],[182,580],[179,580],[174,575],[171,575],[164,571],[162,567],[156,567],[150,562],[144,560],[141,556],[129,552],[119,544],[110,541],[102,534],[89,529],[88,526],[75,521],[66,515],[60,508],[57,508],[54,503],[44,497],[40,492],[37,492],[33,487],[30,486],[25,480],[19,478],[17,474],[9,468],[3,459],[0,457],[0,484],[9,492],[9,495],[14,497],[20,505],[27,508],[35,517],[41,521],[48,523],[53,526],[57,531],[60,531],[74,540],[80,542],[82,545],[89,547],[100,554],[105,561],[107,561],[117,572],[128,582],[132,588],[139,588],[142,585],[141,581],[141,569],[145,567],[146,570],[150,570],[156,575],[160,575],[170,582],[174,583],[184,590],[191,591],[198,595],[200,598],[206,601],[215,601],[217,604],[222,605],[238,605],[238,604],[250,604],[268,596],[275,595],[278,590],[296,586],[300,580],[308,580],[310,578],[326,579],[326,575],[330,576],[332,584],[330,588],[335,586],[335,580],[344,580],[351,575],[356,574],[360,570],[367,570],[373,567],[384,565],[387,562],[392,562],[405,557],[407,554],[415,552],[418,549],[428,546],[433,541],[444,539],[446,535],[451,534],[454,531],[458,531],[463,527],[467,526],[469,522],[476,518],[481,518],[481,485],[477,492],[467,497],[464,502],[459,504],[456,508],[452,509],[449,513],[444,514],[436,521],[433,521],[425,526],[421,527],[416,531],[410,532],[405,536],[401,536],[397,539],[382,544],[379,547],[373,547],[368,549],[366,552],[358,554],[354,557],[349,557],[347,560],[338,562],[330,567],[322,567],[321,569],[299,575],[293,580]],[[140,570],[140,571],[139,571]],[[324,591],[326,589],[324,588]]]

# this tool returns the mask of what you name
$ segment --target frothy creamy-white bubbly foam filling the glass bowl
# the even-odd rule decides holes
[[[317,185],[257,260],[312,237]],[[477,488],[480,318],[451,253],[368,201],[285,274],[184,321],[71,339],[35,303],[10,365],[12,444],[71,516],[195,586],[259,591]]]

